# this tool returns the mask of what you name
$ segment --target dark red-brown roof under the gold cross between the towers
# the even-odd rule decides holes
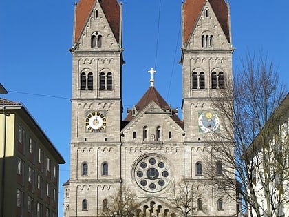
[[[169,110],[171,106],[162,98],[160,93],[156,90],[155,87],[151,86],[147,90],[147,92],[144,93],[140,101],[136,104],[136,109],[138,111],[141,111],[146,107],[151,101],[154,101],[160,108],[164,111]],[[182,127],[182,121],[180,121],[180,118],[178,117],[177,113],[173,110],[172,111],[171,118],[178,123]],[[132,116],[132,110],[127,114],[127,117],[125,118],[125,122],[129,122],[133,119]]]

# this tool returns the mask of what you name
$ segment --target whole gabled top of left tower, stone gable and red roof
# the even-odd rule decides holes
[[[111,4],[110,7],[107,4]],[[98,50],[120,48],[120,5],[116,0],[81,0],[76,5],[74,48],[92,48],[92,37],[101,37]],[[97,42],[96,42],[97,43]]]

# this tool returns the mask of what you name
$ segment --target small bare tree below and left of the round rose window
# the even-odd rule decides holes
[[[109,217],[131,217],[143,216],[140,212],[140,203],[136,199],[136,194],[128,187],[121,187],[117,193],[109,196],[107,204],[103,205],[101,216]]]

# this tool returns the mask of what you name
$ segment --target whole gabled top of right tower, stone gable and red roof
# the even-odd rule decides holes
[[[228,6],[224,1],[188,0],[184,5],[183,16],[183,41],[186,49],[227,49],[231,46]]]

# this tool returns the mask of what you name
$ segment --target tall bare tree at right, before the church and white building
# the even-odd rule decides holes
[[[276,206],[285,200],[286,191],[277,191],[276,183],[288,182],[288,136],[277,142],[278,149],[276,145],[272,148],[277,123],[269,119],[286,96],[286,87],[272,61],[261,54],[247,54],[232,80],[228,79],[226,88],[213,99],[215,110],[220,112],[222,134],[207,135],[211,144],[207,167],[217,168],[222,162],[222,178],[217,178],[216,169],[206,176],[223,189],[241,194],[250,216],[279,216]],[[256,178],[261,181],[256,183]],[[264,206],[259,204],[261,197]]]

